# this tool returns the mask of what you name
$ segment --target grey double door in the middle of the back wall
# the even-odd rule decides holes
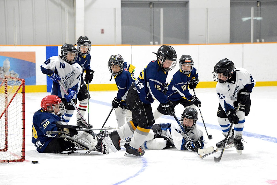
[[[187,4],[187,1],[121,1],[122,44],[188,43]]]

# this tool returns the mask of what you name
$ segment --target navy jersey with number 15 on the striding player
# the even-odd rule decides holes
[[[151,104],[154,100],[159,103],[167,103],[168,100],[163,93],[168,72],[162,71],[158,60],[151,61],[140,73],[135,82],[140,100]]]

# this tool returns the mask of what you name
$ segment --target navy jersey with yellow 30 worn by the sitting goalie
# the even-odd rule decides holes
[[[50,141],[58,136],[58,134],[46,134],[46,131],[58,130],[57,121],[63,120],[61,117],[50,112],[44,112],[42,109],[35,112],[33,116],[32,143],[39,153],[43,153]]]

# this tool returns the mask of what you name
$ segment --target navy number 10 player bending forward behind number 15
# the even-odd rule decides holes
[[[182,55],[179,60],[179,71],[177,71],[171,82],[167,86],[166,97],[170,100],[174,107],[179,103],[183,105],[185,108],[195,106],[201,106],[201,101],[194,95],[190,94],[190,89],[196,88],[198,84],[198,73],[196,69],[193,67],[194,62],[190,55]],[[166,111],[162,108],[162,104],[160,104],[157,110],[154,111],[155,120],[158,119],[162,115],[167,115]]]

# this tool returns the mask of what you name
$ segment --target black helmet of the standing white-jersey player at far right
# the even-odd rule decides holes
[[[235,64],[224,58],[216,63],[214,66],[213,77],[214,81],[219,83],[225,83],[229,78],[231,78],[235,69]]]

